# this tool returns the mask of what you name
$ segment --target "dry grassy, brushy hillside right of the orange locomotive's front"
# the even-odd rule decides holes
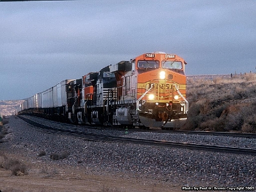
[[[256,74],[189,79],[185,130],[256,132]]]

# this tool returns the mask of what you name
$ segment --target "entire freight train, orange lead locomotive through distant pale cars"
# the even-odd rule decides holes
[[[186,61],[150,52],[67,79],[24,100],[19,114],[73,124],[180,127],[186,122]]]

